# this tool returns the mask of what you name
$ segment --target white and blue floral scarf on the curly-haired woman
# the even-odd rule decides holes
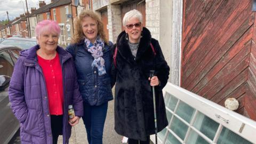
[[[102,58],[102,49],[104,47],[103,39],[98,36],[93,44],[89,39],[85,38],[84,43],[86,44],[87,51],[89,51],[94,58],[92,62],[92,69],[93,67],[97,67],[99,76],[106,74],[105,60]]]

